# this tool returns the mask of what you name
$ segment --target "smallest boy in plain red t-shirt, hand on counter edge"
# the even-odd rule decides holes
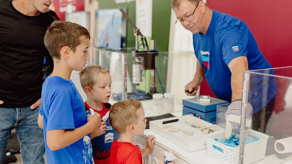
[[[146,127],[142,103],[135,99],[122,100],[112,105],[110,123],[120,137],[111,145],[111,164],[142,164],[143,158],[153,149],[155,137],[147,136],[147,145],[141,151],[134,144],[134,136],[143,135]],[[162,152],[163,153],[163,152]],[[161,162],[164,163],[164,156]],[[169,164],[174,164],[172,161]]]

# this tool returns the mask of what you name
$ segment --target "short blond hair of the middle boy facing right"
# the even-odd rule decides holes
[[[80,83],[83,90],[86,86],[93,88],[96,82],[96,78],[99,76],[99,74],[106,73],[110,73],[110,71],[100,65],[90,65],[85,67],[82,71],[79,72]]]

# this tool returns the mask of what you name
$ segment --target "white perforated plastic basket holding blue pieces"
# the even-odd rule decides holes
[[[251,130],[251,129],[247,129],[245,132],[245,135],[246,137],[249,137],[249,136],[258,137],[260,140],[254,141],[252,143],[245,145],[243,163],[250,164],[264,158],[265,153],[266,153],[266,145],[267,145],[269,136],[262,134],[258,131]],[[225,138],[224,130],[206,135],[208,156],[224,164],[237,163],[239,146],[230,147],[218,141],[215,141],[214,138],[217,138],[218,141],[220,141],[221,139],[224,139]],[[218,151],[217,149],[213,148],[213,145],[223,149],[223,152]]]

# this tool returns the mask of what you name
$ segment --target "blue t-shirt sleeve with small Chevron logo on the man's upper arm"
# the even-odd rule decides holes
[[[228,65],[232,59],[240,56],[247,57],[248,35],[237,26],[221,31],[219,37],[223,60]]]

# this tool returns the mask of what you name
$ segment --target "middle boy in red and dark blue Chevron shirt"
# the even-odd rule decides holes
[[[85,109],[90,108],[102,117],[99,136],[92,138],[93,159],[95,164],[110,164],[111,144],[119,137],[118,132],[111,127],[108,114],[111,104],[111,75],[103,66],[91,65],[80,73],[80,83],[86,93]]]

